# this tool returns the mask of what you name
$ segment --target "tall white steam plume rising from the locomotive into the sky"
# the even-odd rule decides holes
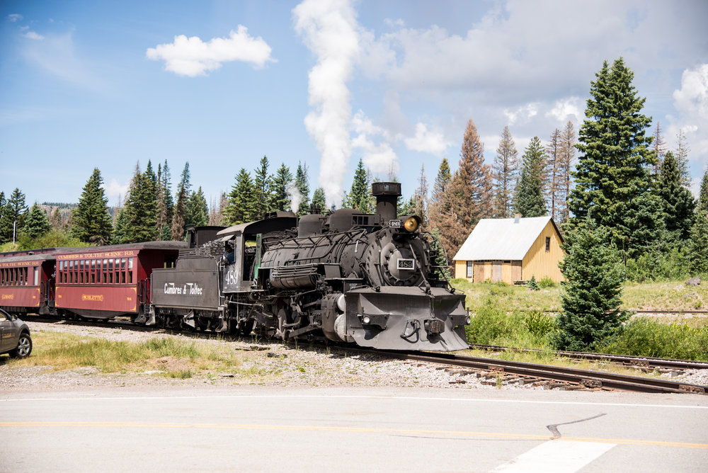
[[[293,8],[295,30],[316,57],[309,72],[305,127],[321,154],[319,183],[327,204],[341,203],[351,154],[350,93],[346,81],[359,54],[356,15],[348,0],[304,0]]]

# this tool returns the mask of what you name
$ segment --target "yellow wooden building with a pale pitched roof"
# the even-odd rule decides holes
[[[455,278],[513,284],[563,279],[563,237],[551,217],[482,219],[457,251]]]

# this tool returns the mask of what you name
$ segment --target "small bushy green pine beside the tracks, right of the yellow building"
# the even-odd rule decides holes
[[[598,348],[629,319],[622,306],[624,266],[610,232],[586,217],[566,233],[566,256],[560,263],[563,312],[556,317],[559,331],[554,346],[559,350],[590,351]]]

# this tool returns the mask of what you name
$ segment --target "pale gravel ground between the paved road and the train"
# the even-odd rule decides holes
[[[54,370],[46,366],[28,366],[0,357],[0,392],[36,391],[76,387],[190,387],[198,385],[229,386],[259,384],[282,387],[432,387],[449,389],[544,389],[539,385],[497,385],[496,379],[478,378],[476,373],[449,371],[431,365],[384,360],[378,355],[345,355],[337,350],[323,353],[306,347],[291,348],[281,343],[251,341],[219,341],[187,338],[161,331],[132,331],[119,328],[81,326],[65,322],[28,322],[33,334],[64,332],[81,337],[105,338],[110,341],[142,342],[150,338],[175,337],[205,346],[234,350],[241,363],[228,371],[198,370],[188,379],[166,376],[179,370],[180,360],[161,358],[149,370],[101,373],[95,367]],[[35,337],[36,340],[36,337]],[[36,347],[35,347],[36,348]],[[673,377],[673,381],[708,385],[708,370],[693,370]]]

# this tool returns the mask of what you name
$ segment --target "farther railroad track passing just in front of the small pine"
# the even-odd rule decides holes
[[[535,348],[514,348],[508,346],[480,345],[470,343],[469,348],[478,348],[487,351],[513,351],[515,353],[549,353]],[[663,368],[667,370],[708,370],[708,363],[705,361],[673,360],[670,358],[652,358],[629,355],[605,355],[603,353],[586,353],[583,351],[553,351],[553,355],[566,358],[576,358],[580,360],[598,360],[616,365],[636,367],[639,369]]]

